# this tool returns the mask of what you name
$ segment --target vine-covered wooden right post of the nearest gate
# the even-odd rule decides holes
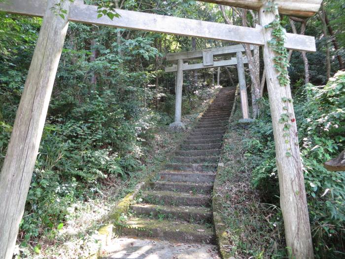
[[[265,6],[259,10],[260,24],[264,27],[275,19],[275,14],[266,11]],[[285,226],[285,239],[288,250],[292,252],[293,258],[312,259],[313,249],[311,242],[311,229],[309,223],[308,205],[300,148],[298,145],[298,132],[295,121],[295,112],[292,102],[283,102],[282,98],[292,98],[290,85],[282,87],[277,79],[278,73],[274,68],[276,53],[270,48],[269,40],[272,29],[263,31],[265,46],[263,47],[263,58],[266,68],[267,89],[270,99],[273,133],[276,146],[276,167],[280,189],[280,207],[282,210]],[[291,114],[288,131],[289,136],[283,137],[284,123],[279,123],[281,114],[286,113],[283,108]],[[287,140],[287,143],[285,143]],[[286,153],[289,152],[291,156]]]

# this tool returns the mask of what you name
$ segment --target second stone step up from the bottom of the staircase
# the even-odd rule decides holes
[[[131,211],[137,215],[145,215],[160,220],[186,221],[186,222],[212,222],[212,212],[210,208],[202,207],[170,207],[154,204],[135,204],[131,206]]]

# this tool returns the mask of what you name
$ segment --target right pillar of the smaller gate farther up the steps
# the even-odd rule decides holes
[[[245,83],[242,52],[237,52],[236,57],[237,57],[237,72],[239,74],[242,116],[243,116],[243,119],[248,119],[249,118],[248,96],[247,96],[247,86]]]

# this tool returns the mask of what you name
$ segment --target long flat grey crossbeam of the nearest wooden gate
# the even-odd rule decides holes
[[[46,7],[46,0],[11,0],[0,3],[0,11],[40,17],[43,16]],[[116,12],[121,15],[120,18],[113,20],[106,16],[97,18],[97,6],[74,2],[70,8],[69,21],[254,45],[265,44],[262,28],[249,28],[120,9],[116,9]],[[286,36],[286,48],[316,51],[314,37],[296,34],[286,34]]]

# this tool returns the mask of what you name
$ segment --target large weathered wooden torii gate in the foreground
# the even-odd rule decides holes
[[[116,9],[121,16],[119,19],[110,20],[106,16],[98,19],[97,6],[83,4],[82,0],[73,3],[69,0],[8,0],[0,3],[0,11],[43,17],[0,173],[0,259],[11,259],[13,255],[69,21],[263,46],[286,242],[295,258],[313,258],[296,122],[290,129],[294,135],[287,143],[283,138],[283,124],[278,122],[280,114],[284,113],[283,106],[295,116],[292,103],[285,104],[281,99],[281,96],[291,98],[290,86],[279,86],[278,73],[274,69],[276,53],[268,43],[272,29],[265,28],[278,13],[267,11],[266,0],[205,1],[258,10],[261,26],[248,28],[121,9]],[[60,2],[66,11],[64,19],[51,10]],[[281,14],[308,17],[318,11],[321,0],[277,0],[277,4]],[[284,46],[288,49],[316,51],[314,37],[289,33],[285,36]],[[286,147],[291,156],[286,155]]]

